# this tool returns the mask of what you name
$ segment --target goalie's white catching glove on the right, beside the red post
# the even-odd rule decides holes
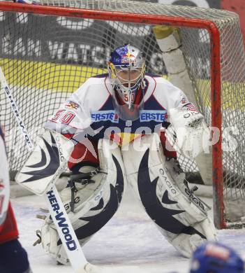
[[[196,158],[202,151],[209,153],[210,130],[204,116],[192,104],[188,105],[170,109],[170,123],[176,132],[177,146],[184,155]]]

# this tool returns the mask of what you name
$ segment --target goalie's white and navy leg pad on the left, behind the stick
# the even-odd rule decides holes
[[[124,165],[120,149],[112,149],[111,141],[101,139],[98,143],[100,172],[91,177],[92,183],[76,183],[74,211],[70,211],[70,188],[61,191],[61,200],[68,212],[77,239],[84,245],[92,235],[112,218],[119,208],[124,193]],[[85,167],[92,171],[93,167]],[[82,167],[84,172],[84,167]],[[62,264],[67,264],[66,251],[61,244],[54,223],[45,219],[40,237],[45,251]]]

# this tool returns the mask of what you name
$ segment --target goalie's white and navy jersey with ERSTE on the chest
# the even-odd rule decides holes
[[[168,111],[172,108],[193,108],[184,92],[161,76],[146,74],[142,91],[143,108],[135,120],[123,120],[113,103],[114,90],[107,74],[89,78],[54,113],[46,127],[61,134],[76,134],[87,129],[93,139],[117,134],[152,134],[168,127]],[[88,130],[88,128],[90,130]]]

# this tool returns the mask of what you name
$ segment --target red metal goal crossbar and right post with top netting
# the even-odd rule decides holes
[[[143,25],[169,25],[189,29],[206,29],[209,33],[210,49],[210,99],[211,126],[222,129],[221,104],[221,21],[230,20],[239,25],[234,13],[225,10],[214,11],[204,8],[181,6],[165,6],[158,3],[138,1],[43,1],[45,6],[21,3],[0,2],[0,10],[10,13],[28,13],[31,15],[64,16],[67,18],[83,18],[93,20],[110,20],[116,22]],[[85,3],[86,2],[86,3]],[[80,3],[82,8],[80,8]],[[50,5],[50,6],[48,6]],[[215,18],[215,13],[217,17]],[[239,28],[239,27],[238,27]],[[239,35],[238,35],[239,36]],[[229,37],[228,37],[229,38]],[[238,41],[240,43],[240,41]],[[244,53],[242,53],[244,55]],[[224,57],[223,54],[222,57]],[[244,59],[241,59],[241,62]],[[5,64],[7,65],[7,64]],[[3,64],[4,66],[4,64]],[[4,69],[4,67],[3,67]],[[244,79],[242,79],[244,80]],[[45,120],[43,120],[45,122]],[[212,177],[214,186],[214,221],[217,228],[225,228],[223,204],[223,155],[222,136],[212,146]]]

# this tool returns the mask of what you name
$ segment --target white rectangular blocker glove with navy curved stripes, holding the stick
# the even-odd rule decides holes
[[[72,141],[45,129],[15,181],[36,195],[43,195],[59,179],[72,150]]]

